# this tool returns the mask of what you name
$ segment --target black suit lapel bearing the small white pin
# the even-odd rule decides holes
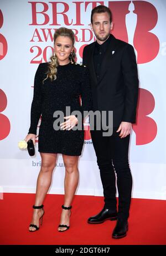
[[[114,56],[115,54],[115,49],[117,47],[117,44],[116,44],[116,38],[111,34],[110,35],[110,43],[108,44],[108,48],[105,52],[105,55],[103,57],[103,60],[102,60],[102,64],[101,64],[101,73],[100,73],[100,80],[98,81],[98,84],[100,83],[100,81],[102,80],[103,76],[105,75],[106,71],[107,71],[107,68],[108,68],[108,65],[109,65],[109,62],[110,60],[112,59],[112,57]]]

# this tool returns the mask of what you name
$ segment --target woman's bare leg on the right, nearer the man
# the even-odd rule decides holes
[[[64,165],[65,165],[65,197],[64,206],[71,206],[72,199],[74,197],[78,182],[79,182],[79,171],[78,171],[78,160],[79,156],[66,156],[63,155]],[[70,210],[62,209],[60,224],[70,225]],[[64,231],[66,228],[58,228],[58,231]]]

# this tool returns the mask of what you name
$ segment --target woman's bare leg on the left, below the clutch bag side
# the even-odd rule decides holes
[[[43,204],[46,193],[51,185],[53,170],[56,164],[56,153],[40,153],[42,157],[42,166],[38,175],[37,190],[35,196],[35,206]],[[43,209],[34,209],[32,216],[32,224],[39,227],[39,219],[43,215]],[[34,227],[29,227],[30,231],[35,231]]]

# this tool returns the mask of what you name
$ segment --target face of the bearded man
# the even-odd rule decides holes
[[[98,43],[105,42],[112,27],[113,22],[110,23],[110,16],[107,12],[94,13],[91,29],[94,31]]]

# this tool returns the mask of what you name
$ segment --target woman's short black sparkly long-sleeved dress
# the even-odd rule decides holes
[[[48,63],[39,64],[34,79],[34,95],[31,106],[30,128],[28,134],[37,134],[37,125],[42,114],[39,127],[38,151],[46,153],[62,153],[69,156],[80,156],[84,144],[84,130],[54,130],[55,111],[63,111],[66,106],[70,111],[91,110],[91,89],[89,73],[85,66],[79,64],[59,65],[56,80],[46,78]],[[80,105],[80,95],[82,105]],[[66,121],[64,119],[64,121]]]

